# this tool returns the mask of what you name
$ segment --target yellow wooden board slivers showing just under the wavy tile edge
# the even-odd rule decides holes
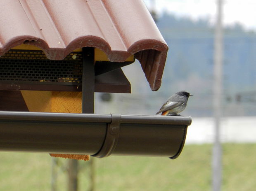
[[[16,47],[12,47],[12,49],[16,49],[16,50],[41,50],[40,48],[33,46],[33,45],[28,45],[28,44],[21,44],[19,46]],[[73,50],[73,52],[81,52],[82,49],[75,49]],[[109,59],[107,58],[107,55],[100,49],[95,49],[95,61],[109,61]],[[130,56],[129,58],[126,59],[126,62],[130,61],[133,62],[134,61],[134,56]]]

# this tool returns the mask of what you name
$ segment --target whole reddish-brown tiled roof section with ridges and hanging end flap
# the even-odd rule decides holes
[[[154,91],[168,51],[142,0],[0,1],[0,56],[22,43],[52,60],[81,47],[101,49],[111,62],[135,55]]]

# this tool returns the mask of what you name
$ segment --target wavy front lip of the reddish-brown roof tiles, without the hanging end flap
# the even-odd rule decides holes
[[[7,44],[3,46],[5,48],[0,48],[0,56],[9,51],[9,49],[12,49],[12,47],[19,46],[23,43],[33,45],[42,49],[45,52],[47,58],[50,60],[62,60],[73,50],[83,47],[94,47],[102,50],[108,56],[109,61],[111,62],[124,62],[129,56],[134,55],[139,51],[149,49],[155,49],[157,51],[164,52],[168,51],[168,46],[165,43],[152,39],[137,41],[133,43],[127,51],[116,51],[111,50],[109,44],[104,39],[97,36],[78,37],[63,48],[50,48],[48,47],[47,42],[45,42],[45,40],[43,39],[33,36],[26,36],[24,38],[24,36],[22,36],[22,38],[16,37],[15,39],[12,39],[9,42],[7,42]]]

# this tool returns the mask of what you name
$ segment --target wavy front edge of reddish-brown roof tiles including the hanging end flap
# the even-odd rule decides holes
[[[82,47],[101,49],[111,62],[124,62],[129,56],[135,55],[135,58],[140,61],[152,91],[157,91],[161,86],[168,51],[167,44],[152,39],[139,40],[133,43],[127,51],[113,51],[104,39],[97,36],[78,37],[63,48],[49,48],[47,43],[40,38],[32,36],[24,38],[23,36],[23,38],[16,37],[10,40],[10,43],[4,46],[5,49],[0,49],[0,55],[22,43],[42,49],[47,58],[51,60],[62,60],[73,50]]]

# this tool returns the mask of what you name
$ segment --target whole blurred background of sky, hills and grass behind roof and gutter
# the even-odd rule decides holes
[[[110,156],[79,162],[78,190],[212,190],[213,65],[216,0],[144,0],[169,51],[159,91],[140,64],[123,68],[132,93],[95,93],[95,113],[155,114],[181,90],[190,92],[182,115],[192,116],[181,155]],[[220,141],[224,191],[256,187],[256,2],[223,2],[223,91]],[[134,72],[136,71],[136,73]],[[65,159],[47,154],[0,153],[0,190],[67,189]]]

